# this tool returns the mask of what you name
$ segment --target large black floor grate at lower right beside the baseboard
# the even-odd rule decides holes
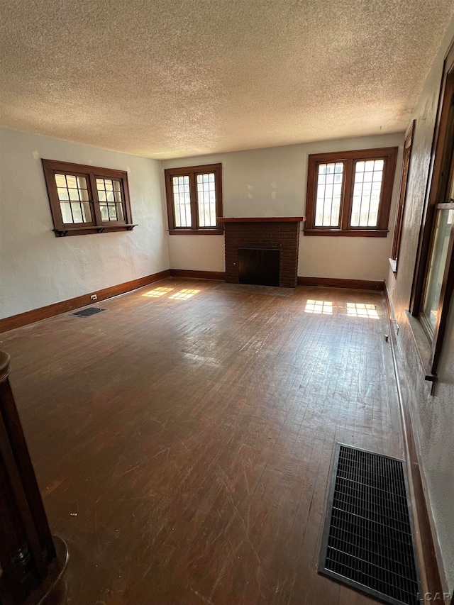
[[[392,605],[419,605],[404,462],[337,444],[319,573]]]

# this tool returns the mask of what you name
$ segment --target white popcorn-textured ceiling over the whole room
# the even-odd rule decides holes
[[[403,131],[454,0],[1,0],[1,123],[148,157]]]

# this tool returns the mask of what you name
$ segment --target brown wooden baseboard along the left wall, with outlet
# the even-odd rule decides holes
[[[139,279],[132,279],[131,282],[124,282],[123,284],[118,284],[102,290],[96,290],[95,292],[89,292],[88,294],[83,294],[82,296],[76,296],[74,299],[49,304],[47,306],[40,307],[40,309],[32,309],[32,311],[26,311],[25,313],[18,313],[18,315],[0,319],[0,333],[13,330],[14,328],[21,328],[21,326],[28,326],[30,323],[48,319],[55,315],[72,311],[73,309],[79,309],[81,306],[96,304],[99,301],[110,299],[112,296],[118,296],[118,294],[131,292],[131,290],[147,286],[148,284],[153,284],[153,282],[158,282],[160,279],[164,279],[165,277],[169,276],[170,270],[167,269],[165,271],[160,271],[159,273],[153,273],[153,275],[146,275],[145,277],[139,277]],[[92,301],[92,299],[90,299],[92,294],[96,294],[96,301]]]

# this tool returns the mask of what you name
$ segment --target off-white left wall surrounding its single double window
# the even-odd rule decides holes
[[[56,238],[41,158],[128,170],[133,231]],[[2,128],[0,318],[169,268],[160,162]]]

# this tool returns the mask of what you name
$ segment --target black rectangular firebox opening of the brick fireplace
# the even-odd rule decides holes
[[[258,286],[279,286],[280,250],[239,248],[239,282]]]

